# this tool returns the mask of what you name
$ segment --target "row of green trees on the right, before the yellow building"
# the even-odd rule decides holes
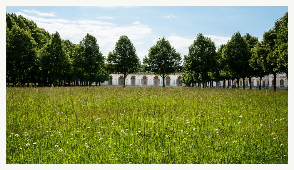
[[[184,73],[181,78],[185,84],[211,81],[239,80],[285,73],[288,77],[288,13],[275,22],[273,29],[265,32],[263,40],[250,34],[242,36],[236,32],[231,39],[216,51],[214,42],[198,34],[189,47],[189,54],[184,56]],[[224,85],[225,86],[225,85]],[[228,85],[229,86],[229,81]],[[239,88],[239,81],[237,81]],[[251,81],[249,81],[251,88]],[[261,81],[259,88],[261,87]],[[276,84],[274,84],[276,89]]]

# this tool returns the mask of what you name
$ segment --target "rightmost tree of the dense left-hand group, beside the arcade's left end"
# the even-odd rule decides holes
[[[80,42],[83,55],[83,67],[84,72],[89,77],[89,86],[92,84],[95,73],[101,69],[101,66],[104,64],[104,57],[102,52],[99,50],[99,45],[94,36],[87,33],[87,35]]]

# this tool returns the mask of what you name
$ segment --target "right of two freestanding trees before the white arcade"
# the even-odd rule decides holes
[[[176,49],[164,37],[159,38],[156,44],[150,47],[148,57],[144,57],[143,65],[145,70],[160,75],[165,87],[166,76],[182,69],[181,54],[176,52]]]

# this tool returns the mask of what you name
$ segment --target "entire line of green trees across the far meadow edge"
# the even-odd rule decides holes
[[[49,34],[23,16],[6,13],[6,83],[12,86],[101,85],[111,73],[126,76],[153,72],[164,79],[183,71],[181,81],[188,86],[208,82],[263,77],[285,73],[288,76],[288,12],[265,32],[263,40],[236,32],[218,50],[202,33],[189,47],[181,66],[181,55],[165,37],[150,47],[141,64],[131,40],[122,35],[105,57],[94,36],[87,34],[79,44],[62,40],[58,32]],[[260,81],[261,83],[261,81]],[[251,88],[251,81],[249,81]],[[227,85],[227,87],[229,84]],[[237,81],[237,88],[239,88]],[[261,85],[259,85],[260,87]],[[225,87],[225,85],[223,85]],[[274,85],[276,88],[276,84]]]

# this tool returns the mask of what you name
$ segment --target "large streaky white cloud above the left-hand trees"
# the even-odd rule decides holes
[[[26,19],[33,20],[40,28],[44,28],[50,34],[59,32],[62,39],[69,39],[71,42],[78,44],[87,33],[96,37],[104,56],[114,49],[115,43],[121,35],[137,44],[142,44],[140,40],[148,36],[152,29],[147,25],[124,25],[117,26],[114,23],[101,22],[94,20],[64,20],[64,19],[45,19],[35,16],[29,16],[18,12],[16,15],[22,15]]]

